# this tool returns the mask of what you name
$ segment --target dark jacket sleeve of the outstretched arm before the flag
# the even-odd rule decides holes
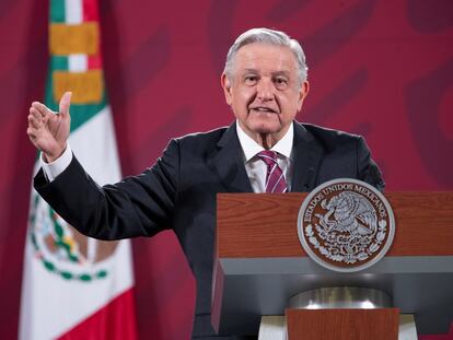
[[[179,146],[172,140],[156,163],[138,176],[100,187],[76,157],[48,183],[39,169],[34,187],[82,234],[100,239],[151,236],[172,226],[179,178]]]

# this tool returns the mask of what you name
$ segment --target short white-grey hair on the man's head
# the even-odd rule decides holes
[[[226,55],[226,62],[223,72],[226,74],[228,79],[233,79],[234,73],[234,58],[241,47],[253,44],[270,44],[278,46],[287,46],[294,54],[297,63],[298,63],[298,77],[300,83],[304,82],[307,77],[309,68],[305,62],[305,54],[298,40],[292,39],[288,34],[281,31],[270,30],[270,28],[252,28],[243,34],[241,34],[234,44],[230,47]]]

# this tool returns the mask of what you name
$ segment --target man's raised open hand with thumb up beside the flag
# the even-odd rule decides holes
[[[61,96],[59,113],[50,110],[39,102],[33,102],[30,107],[26,133],[47,162],[54,162],[66,149],[71,127],[71,92],[65,92]]]

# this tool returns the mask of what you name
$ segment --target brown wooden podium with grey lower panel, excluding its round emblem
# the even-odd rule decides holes
[[[305,196],[218,195],[211,321],[220,335],[257,335],[260,317],[283,315],[291,296],[332,286],[383,291],[399,313],[415,314],[419,333],[448,331],[453,321],[453,192],[386,194],[396,221],[393,245],[380,262],[353,273],[327,270],[303,250],[297,220]],[[381,339],[369,329],[378,333],[388,326],[393,333],[388,330],[385,339],[397,339],[396,309],[383,308],[382,315],[369,318],[363,310],[373,309],[353,310],[288,309],[290,339],[313,339],[306,325],[315,335],[316,327],[325,331],[330,321],[339,329],[335,320],[347,314],[350,320],[363,318],[351,326],[368,333],[363,339]],[[342,321],[346,327],[348,323]],[[347,339],[339,335],[330,339]]]

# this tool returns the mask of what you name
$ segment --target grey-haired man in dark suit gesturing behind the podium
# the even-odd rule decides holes
[[[117,239],[174,230],[197,281],[193,337],[204,339],[214,337],[210,293],[218,192],[310,191],[339,177],[384,186],[361,137],[294,120],[309,82],[302,48],[284,33],[242,34],[230,48],[221,83],[234,124],[174,139],[151,168],[103,188],[67,143],[69,93],[57,115],[33,103],[27,130],[42,151],[35,188],[80,232]]]

